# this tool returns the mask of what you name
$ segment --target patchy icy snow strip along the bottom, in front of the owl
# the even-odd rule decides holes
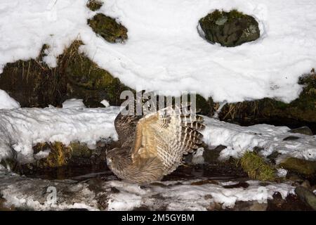
[[[11,205],[33,210],[65,210],[85,208],[88,210],[133,210],[147,207],[149,210],[211,210],[214,203],[221,207],[233,207],[237,201],[266,203],[275,192],[282,198],[294,194],[291,184],[246,181],[246,188],[228,188],[237,181],[205,182],[200,180],[164,181],[142,186],[122,181],[102,181],[98,188],[89,182],[48,181],[29,179],[10,174],[0,174],[0,194]],[[48,189],[50,187],[50,189]],[[54,190],[55,201],[48,195]],[[114,190],[114,191],[113,191]]]

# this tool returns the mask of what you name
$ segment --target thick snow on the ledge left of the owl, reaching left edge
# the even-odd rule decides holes
[[[34,160],[32,146],[80,141],[93,146],[117,139],[114,118],[119,108],[18,108],[0,110],[0,161],[16,154],[22,163]]]

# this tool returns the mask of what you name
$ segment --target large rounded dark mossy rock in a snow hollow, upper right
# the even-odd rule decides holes
[[[216,10],[200,19],[199,25],[206,40],[227,47],[239,46],[260,37],[256,19],[236,10]]]

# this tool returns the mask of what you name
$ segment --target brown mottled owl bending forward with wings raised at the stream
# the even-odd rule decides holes
[[[119,178],[138,184],[159,181],[202,143],[203,117],[171,107],[146,116],[117,115],[121,148],[107,152],[107,164]]]

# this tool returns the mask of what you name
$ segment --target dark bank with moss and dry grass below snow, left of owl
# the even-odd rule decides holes
[[[96,63],[79,53],[81,41],[74,41],[58,56],[56,68],[43,62],[44,46],[39,57],[8,63],[0,75],[0,89],[7,91],[22,107],[61,106],[68,98],[82,98],[88,107],[103,107],[106,99],[110,105],[120,105],[121,91],[129,89],[98,68]]]

